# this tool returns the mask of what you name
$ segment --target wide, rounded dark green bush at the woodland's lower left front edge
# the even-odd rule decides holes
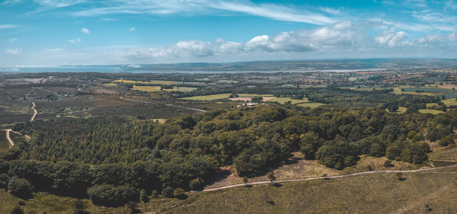
[[[94,204],[102,205],[123,205],[128,201],[137,201],[139,198],[135,188],[106,184],[89,188],[87,194]]]

